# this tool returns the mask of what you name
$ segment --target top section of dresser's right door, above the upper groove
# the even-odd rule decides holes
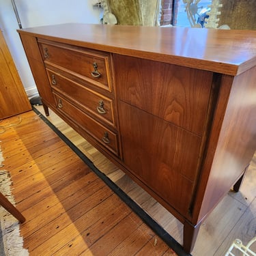
[[[201,135],[208,110],[212,72],[113,55],[121,100]]]

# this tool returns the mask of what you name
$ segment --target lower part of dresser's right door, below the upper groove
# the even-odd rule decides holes
[[[119,126],[128,169],[186,214],[201,138],[125,102],[119,102]]]

